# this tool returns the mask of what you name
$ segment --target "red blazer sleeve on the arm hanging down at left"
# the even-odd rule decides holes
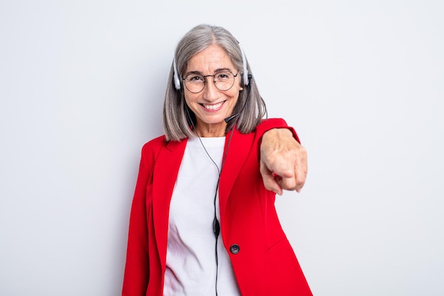
[[[150,142],[142,148],[138,179],[135,185],[128,231],[123,296],[146,294],[150,269],[148,259],[148,221],[146,188],[152,177],[155,153]],[[147,207],[148,206],[148,207]]]

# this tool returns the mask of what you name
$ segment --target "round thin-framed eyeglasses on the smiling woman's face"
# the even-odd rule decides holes
[[[239,72],[238,72],[239,74]],[[235,77],[238,74],[234,75],[230,71],[221,71],[216,73],[215,75],[200,75],[200,74],[189,74],[185,78],[182,77],[182,80],[185,82],[185,87],[194,94],[201,92],[205,88],[206,77],[213,77],[214,85],[216,85],[217,89],[221,91],[226,91],[231,89],[234,85]]]

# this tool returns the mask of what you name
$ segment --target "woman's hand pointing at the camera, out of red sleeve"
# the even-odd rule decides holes
[[[287,128],[273,128],[262,135],[260,173],[267,190],[301,192],[307,175],[306,149]]]

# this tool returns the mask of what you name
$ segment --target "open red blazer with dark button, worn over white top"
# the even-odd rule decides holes
[[[272,128],[289,127],[283,119],[267,119],[253,133],[234,131],[219,187],[221,238],[242,295],[309,296],[309,285],[279,224],[275,194],[265,189],[259,171],[260,140]],[[228,138],[229,133],[225,149]],[[186,145],[187,140],[167,142],[161,136],[143,146],[123,296],[162,296],[170,199]]]

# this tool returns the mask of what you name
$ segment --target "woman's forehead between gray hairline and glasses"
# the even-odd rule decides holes
[[[223,68],[235,70],[228,53],[219,45],[210,45],[196,53],[187,63],[187,72],[216,72]]]

